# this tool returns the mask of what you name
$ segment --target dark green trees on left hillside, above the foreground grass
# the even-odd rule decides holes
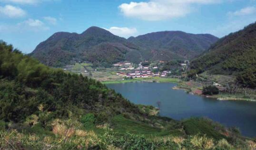
[[[37,114],[39,122],[45,125],[52,118],[69,117],[70,112],[79,116],[108,111],[111,117],[122,108],[124,112],[138,111],[135,105],[100,82],[51,69],[15,52],[6,43],[0,44],[0,62],[0,76],[4,78],[0,80],[0,119],[5,121],[23,122]]]

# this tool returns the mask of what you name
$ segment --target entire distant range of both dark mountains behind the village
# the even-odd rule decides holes
[[[81,34],[58,32],[40,43],[30,56],[49,66],[89,61],[112,64],[120,61],[190,59],[206,50],[217,37],[166,31],[130,37],[111,34],[92,26]]]

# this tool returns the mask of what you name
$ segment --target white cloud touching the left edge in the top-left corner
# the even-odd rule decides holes
[[[26,12],[19,7],[14,7],[11,5],[6,5],[4,7],[0,6],[0,15],[9,18],[19,18],[26,15]]]

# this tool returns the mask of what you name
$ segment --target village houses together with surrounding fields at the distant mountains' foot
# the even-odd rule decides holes
[[[188,61],[143,61],[139,63],[117,62],[109,67],[96,66],[90,62],[75,62],[63,70],[82,74],[98,81],[124,79],[177,79],[187,71]]]

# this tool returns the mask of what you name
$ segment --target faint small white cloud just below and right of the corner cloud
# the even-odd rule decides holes
[[[20,22],[17,26],[22,30],[32,30],[32,31],[49,30],[49,27],[45,26],[45,24],[39,19],[28,19],[23,22]]]

